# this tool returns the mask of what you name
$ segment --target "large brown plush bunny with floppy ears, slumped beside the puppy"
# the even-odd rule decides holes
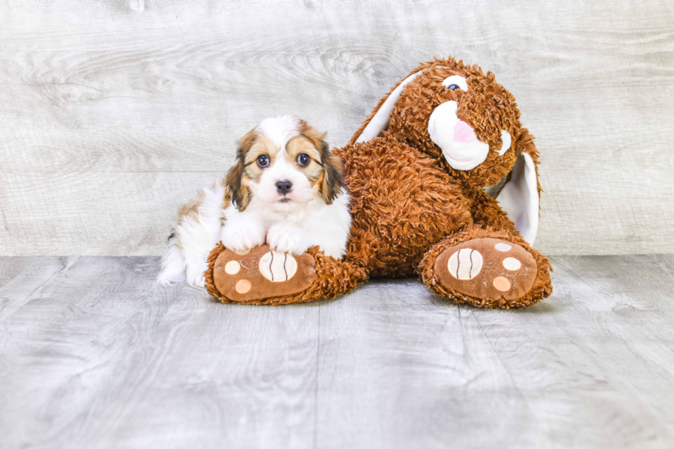
[[[435,294],[478,307],[550,296],[550,261],[531,245],[539,219],[534,138],[494,74],[454,58],[415,68],[344,148],[351,237],[343,261],[309,248],[237,254],[221,244],[205,273],[224,302],[333,298],[369,277],[420,276]]]

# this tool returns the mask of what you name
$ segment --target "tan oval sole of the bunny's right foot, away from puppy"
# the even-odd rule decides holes
[[[516,243],[472,239],[447,248],[435,260],[440,283],[473,298],[516,300],[536,280],[534,256]]]

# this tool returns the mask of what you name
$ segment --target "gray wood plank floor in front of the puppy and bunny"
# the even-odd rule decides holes
[[[554,295],[414,279],[221,305],[153,257],[0,258],[2,448],[672,448],[674,256],[558,256]]]

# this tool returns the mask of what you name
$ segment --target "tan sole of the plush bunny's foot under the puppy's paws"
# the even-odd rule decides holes
[[[316,277],[311,254],[294,256],[272,251],[268,245],[242,252],[224,248],[212,266],[213,283],[209,287],[217,289],[219,294],[214,296],[223,302],[259,303],[296,294],[311,287]],[[208,272],[206,276],[208,281]]]

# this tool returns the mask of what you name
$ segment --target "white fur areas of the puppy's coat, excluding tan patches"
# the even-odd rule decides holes
[[[235,251],[266,242],[272,250],[290,254],[302,254],[318,245],[328,256],[344,256],[351,228],[349,195],[342,192],[332,204],[326,204],[309,179],[281,154],[287,141],[298,134],[298,124],[295,116],[279,116],[258,125],[258,131],[281,151],[263,171],[259,183],[250,183],[251,198],[243,212],[233,204],[222,207],[225,193],[221,182],[203,190],[197,219],[184,217],[173,229],[158,278],[162,285],[186,278],[189,285],[203,287],[206,259],[218,241]],[[292,201],[287,203],[279,202],[283,195],[276,191],[275,184],[282,179],[293,184],[286,195]]]

